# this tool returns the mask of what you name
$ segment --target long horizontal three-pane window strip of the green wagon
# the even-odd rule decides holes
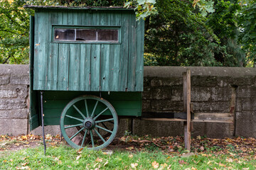
[[[55,41],[118,42],[118,29],[106,28],[54,28]]]

